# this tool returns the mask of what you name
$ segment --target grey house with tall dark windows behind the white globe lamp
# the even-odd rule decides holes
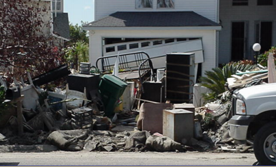
[[[251,59],[254,43],[261,52],[276,44],[274,0],[220,0],[219,63]]]

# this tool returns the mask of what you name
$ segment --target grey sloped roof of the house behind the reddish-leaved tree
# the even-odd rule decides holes
[[[54,17],[54,34],[66,39],[70,39],[68,13],[57,13]]]

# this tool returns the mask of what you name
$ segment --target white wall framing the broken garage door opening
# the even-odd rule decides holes
[[[95,65],[102,57],[102,38],[202,38],[204,63],[202,73],[217,66],[216,30],[93,30],[89,32],[89,60]],[[179,51],[181,52],[181,50]]]

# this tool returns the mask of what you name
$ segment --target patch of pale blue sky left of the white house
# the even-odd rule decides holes
[[[64,12],[68,13],[69,22],[81,25],[81,21],[92,22],[94,19],[93,0],[64,0]]]

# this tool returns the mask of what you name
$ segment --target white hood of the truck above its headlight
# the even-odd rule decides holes
[[[244,99],[256,99],[264,97],[276,96],[276,83],[263,84],[251,86],[239,90],[238,94],[242,95]]]

